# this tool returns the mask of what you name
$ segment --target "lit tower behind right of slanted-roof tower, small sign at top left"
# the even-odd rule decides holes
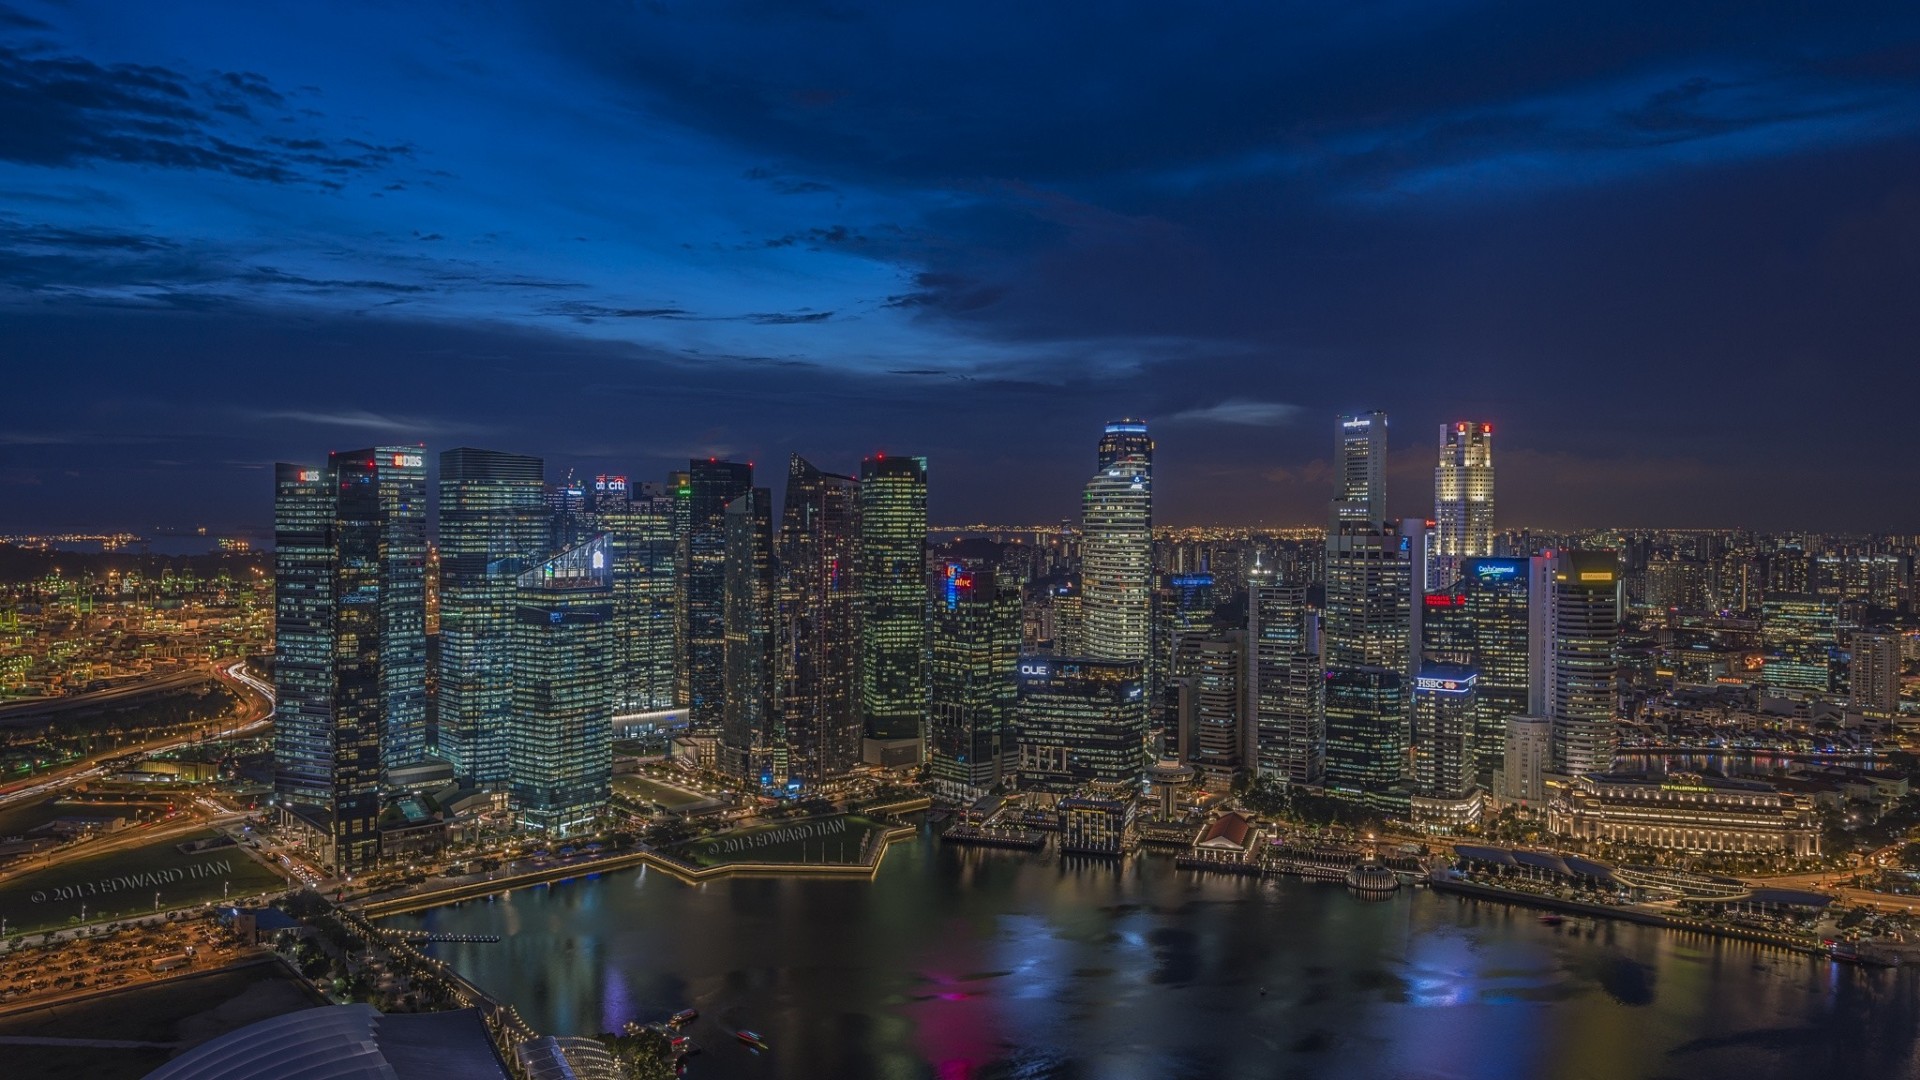
[[[612,555],[614,713],[662,713],[678,692],[676,503],[662,484],[620,484],[593,511]]]

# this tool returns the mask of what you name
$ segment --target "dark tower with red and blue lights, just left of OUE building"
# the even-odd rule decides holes
[[[941,796],[973,799],[1012,776],[1018,663],[1020,580],[947,563],[933,592],[927,669],[927,757]]]

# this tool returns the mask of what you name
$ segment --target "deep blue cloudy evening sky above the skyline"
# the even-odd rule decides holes
[[[1920,4],[0,4],[0,532],[271,461],[931,457],[933,517],[1920,530]],[[1674,13],[1684,8],[1686,13]]]

